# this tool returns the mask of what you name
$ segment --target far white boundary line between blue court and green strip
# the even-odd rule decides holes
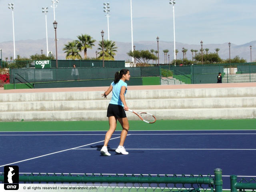
[[[105,130],[104,132],[107,132],[108,130]],[[122,130],[116,130],[116,131],[122,131]],[[222,130],[130,130],[130,131],[256,131],[256,129],[222,129]],[[1,132],[94,132],[94,131],[0,131]],[[95,131],[100,132],[100,131]]]

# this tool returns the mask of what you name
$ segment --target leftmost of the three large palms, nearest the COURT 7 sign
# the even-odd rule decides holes
[[[82,59],[81,55],[79,54],[78,50],[78,42],[77,41],[72,41],[68,42],[68,44],[64,44],[64,50],[66,53],[66,59],[71,59],[71,60],[76,60],[76,59]]]

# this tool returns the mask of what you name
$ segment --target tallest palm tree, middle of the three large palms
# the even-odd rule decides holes
[[[87,58],[87,49],[91,49],[92,46],[94,46],[94,42],[96,40],[94,40],[90,35],[87,34],[81,34],[81,36],[77,36],[78,40],[76,40],[77,42],[77,47],[79,51],[84,50],[84,59]]]

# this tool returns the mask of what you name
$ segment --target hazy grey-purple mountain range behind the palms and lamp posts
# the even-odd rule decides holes
[[[67,42],[72,41],[72,39],[65,39],[60,38],[57,42],[57,48],[58,48],[58,59],[65,59],[65,53],[62,50],[64,48],[64,44]],[[157,42],[154,41],[139,41],[134,42],[134,45],[136,46],[136,50],[150,50],[154,49],[157,50]],[[238,55],[240,58],[245,58],[248,62],[250,62],[250,45],[252,46],[252,61],[256,60],[256,41],[248,42],[243,45],[236,45],[231,44],[230,46],[230,55],[231,58],[234,58],[236,55]],[[131,43],[126,42],[116,42],[116,46],[118,47],[118,51],[115,56],[115,60],[131,60],[127,55],[127,52],[131,50],[132,45]],[[15,42],[16,47],[16,55],[20,56],[26,56],[29,57],[33,54],[41,54],[41,49],[43,49],[43,53],[46,53],[46,38],[39,39],[39,40],[20,40]],[[201,45],[193,45],[193,44],[183,44],[180,42],[176,42],[176,49],[179,50],[177,54],[177,58],[183,58],[182,54],[182,47],[188,49],[188,52],[186,54],[186,57],[188,59],[192,59],[192,53],[190,52],[191,49],[200,50]],[[52,51],[53,54],[55,54],[55,42],[54,39],[48,38],[48,48],[49,51]],[[89,49],[87,51],[88,57],[96,57],[96,50],[98,48],[98,42],[95,42],[95,46],[92,49]],[[219,56],[222,59],[229,58],[229,47],[228,42],[223,44],[204,44],[203,48],[209,48],[209,52],[215,52],[215,48],[219,48],[220,51],[218,52]],[[10,60],[10,56],[13,56],[13,42],[1,42],[0,43],[0,49],[2,49],[2,58],[4,60],[5,57],[8,57],[8,60]],[[174,43],[173,42],[165,42],[165,41],[159,41],[159,58],[160,63],[164,62],[164,53],[163,50],[168,49],[170,52],[170,61],[174,59]],[[81,53],[81,56],[83,57],[83,52]],[[168,59],[168,58],[167,58]]]

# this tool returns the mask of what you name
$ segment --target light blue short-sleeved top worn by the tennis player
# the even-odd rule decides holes
[[[112,89],[112,98],[110,101],[110,104],[115,104],[115,105],[121,105],[124,106],[123,102],[120,99],[120,91],[121,87],[125,86],[126,90],[124,92],[124,95],[126,94],[127,91],[127,83],[123,82],[122,80],[119,80],[118,83],[114,84],[114,81],[111,83],[113,89]]]

